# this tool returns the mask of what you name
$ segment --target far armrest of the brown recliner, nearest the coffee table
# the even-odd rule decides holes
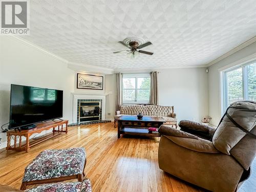
[[[197,135],[208,140],[211,139],[216,130],[214,127],[188,120],[181,120],[179,122],[179,127],[182,131]]]

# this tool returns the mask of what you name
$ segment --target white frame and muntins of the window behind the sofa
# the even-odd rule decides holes
[[[149,104],[150,103],[150,99],[148,99],[148,101],[137,100],[138,90],[148,90],[148,89],[138,89],[137,88],[138,78],[141,78],[141,77],[150,78],[150,73],[125,73],[125,74],[123,74],[122,78],[135,78],[135,89],[124,89],[123,84],[122,84],[122,91],[123,90],[135,90],[135,101],[123,100],[123,104]],[[123,83],[123,80],[122,80],[122,83]],[[150,89],[151,89],[151,86],[150,86]]]

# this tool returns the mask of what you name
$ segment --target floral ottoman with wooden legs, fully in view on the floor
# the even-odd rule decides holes
[[[52,183],[70,179],[82,182],[86,166],[83,147],[42,151],[26,168],[20,189],[27,185]]]

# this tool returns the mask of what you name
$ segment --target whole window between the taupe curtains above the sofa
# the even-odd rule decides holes
[[[150,102],[150,74],[123,74],[123,103]]]

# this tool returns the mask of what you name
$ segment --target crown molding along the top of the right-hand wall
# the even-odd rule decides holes
[[[235,47],[234,49],[228,51],[227,53],[221,55],[220,57],[210,61],[208,64],[206,64],[206,66],[210,67],[211,65],[214,65],[215,63],[221,61],[222,59],[224,59],[224,58],[226,58],[226,57],[228,57],[228,56],[230,56],[230,55],[240,51],[241,49],[244,49],[245,47],[247,47],[247,46],[249,46],[251,44],[253,44],[253,42],[256,42],[256,36],[254,36],[254,37],[250,38],[249,40],[243,42],[241,45]]]

